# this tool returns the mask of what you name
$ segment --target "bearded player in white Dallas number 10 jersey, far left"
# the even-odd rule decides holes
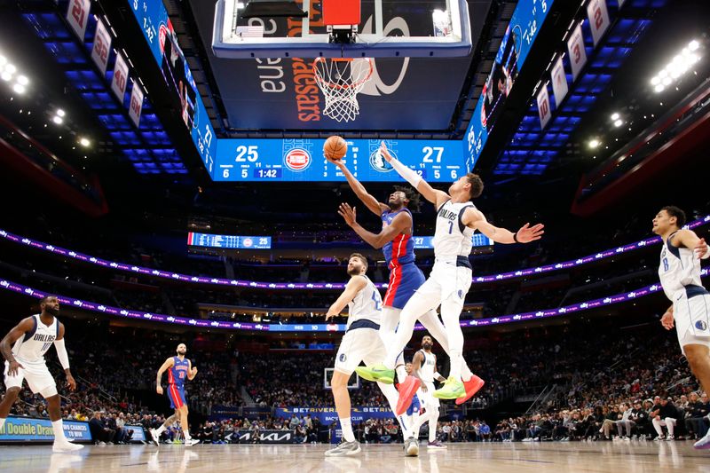
[[[57,384],[44,362],[44,353],[54,345],[59,363],[67,374],[67,386],[69,390],[76,389],[74,376],[69,370],[67,348],[64,345],[64,324],[57,319],[59,300],[55,296],[44,296],[40,299],[39,307],[41,313],[22,319],[0,342],[0,353],[5,359],[6,390],[0,402],[0,432],[3,431],[12,404],[22,390],[22,382],[27,380],[29,389],[33,393],[39,393],[47,399],[51,427],[54,431],[52,450],[74,452],[83,448],[83,445],[72,444],[64,436]]]

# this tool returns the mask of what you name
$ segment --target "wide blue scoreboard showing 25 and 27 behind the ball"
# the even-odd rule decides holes
[[[215,181],[344,181],[323,157],[325,139],[219,139]],[[351,139],[343,158],[364,182],[403,181],[379,153],[379,139]],[[461,141],[385,140],[390,154],[430,182],[453,182],[468,172]]]

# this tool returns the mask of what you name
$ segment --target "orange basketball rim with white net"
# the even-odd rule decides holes
[[[371,58],[316,58],[313,75],[326,98],[323,114],[337,122],[350,122],[360,113],[358,93],[372,77]]]

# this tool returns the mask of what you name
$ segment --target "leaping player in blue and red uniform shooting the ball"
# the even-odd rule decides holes
[[[395,338],[395,329],[399,322],[399,313],[404,308],[406,302],[414,295],[414,292],[422,286],[424,274],[416,264],[414,264],[414,221],[410,209],[418,209],[419,193],[408,187],[395,186],[393,193],[387,203],[377,201],[359,180],[352,175],[345,166],[343,159],[333,160],[326,156],[327,161],[332,162],[342,172],[348,180],[352,191],[358,196],[367,209],[376,216],[381,217],[383,228],[380,233],[371,233],[358,224],[355,219],[355,212],[348,213],[347,217],[343,212],[339,212],[345,219],[345,223],[351,226],[359,237],[367,241],[374,248],[383,248],[383,254],[388,267],[390,268],[390,282],[387,293],[383,299],[383,318],[380,326],[380,335],[385,346],[390,346]],[[347,204],[346,204],[347,205]],[[429,330],[429,333],[437,340],[441,347],[449,352],[449,343],[446,338],[446,328],[438,318],[436,311],[427,311],[419,321]],[[401,356],[400,356],[401,358]],[[406,370],[403,359],[397,360],[397,377],[399,382],[406,379]],[[465,394],[456,399],[456,404],[462,404],[484,385],[484,381],[477,375],[472,374],[466,363],[461,367],[462,379],[465,387]],[[373,380],[370,380],[373,381]],[[394,380],[391,380],[394,381]],[[390,381],[390,382],[391,382]],[[411,393],[400,393],[400,399],[411,398],[409,394],[416,392],[419,386],[411,386],[408,389]],[[404,396],[402,396],[404,395]],[[407,406],[399,406],[397,412],[402,414]]]

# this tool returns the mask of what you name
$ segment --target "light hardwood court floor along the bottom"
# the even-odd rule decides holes
[[[710,473],[710,451],[691,442],[455,444],[405,457],[401,445],[362,445],[354,457],[326,458],[327,445],[108,445],[80,454],[51,453],[49,446],[0,447],[0,471],[19,473],[209,472],[456,473],[650,472]]]

